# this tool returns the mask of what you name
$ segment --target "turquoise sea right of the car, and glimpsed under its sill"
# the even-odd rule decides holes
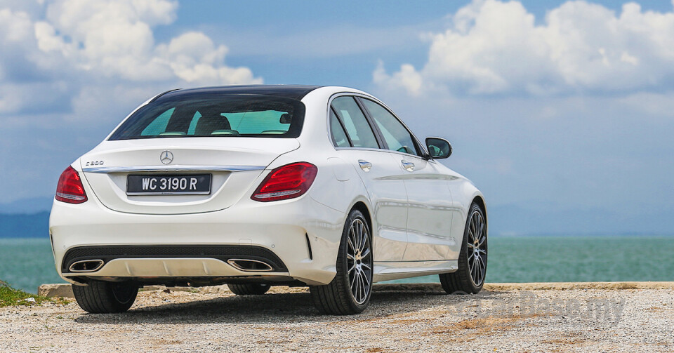
[[[491,237],[486,281],[674,281],[674,237]]]

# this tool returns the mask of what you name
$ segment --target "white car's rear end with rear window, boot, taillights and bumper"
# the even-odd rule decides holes
[[[59,180],[60,276],[329,283],[344,213],[306,195],[319,172],[300,157],[301,95],[187,90],[137,109]]]

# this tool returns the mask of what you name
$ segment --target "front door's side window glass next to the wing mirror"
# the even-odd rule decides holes
[[[361,100],[367,111],[376,122],[381,134],[388,145],[388,149],[397,152],[416,154],[420,156],[412,138],[411,133],[407,131],[404,125],[398,121],[385,107],[382,107],[371,100]]]

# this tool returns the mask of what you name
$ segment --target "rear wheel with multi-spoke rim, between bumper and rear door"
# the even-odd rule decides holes
[[[372,239],[363,214],[352,210],[346,218],[337,253],[337,274],[324,286],[310,286],[311,298],[322,314],[359,314],[372,295]]]

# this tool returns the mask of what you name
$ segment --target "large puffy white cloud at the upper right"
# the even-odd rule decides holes
[[[412,95],[446,88],[463,95],[615,93],[674,82],[674,13],[624,4],[620,13],[567,1],[536,25],[518,1],[475,0],[430,34],[428,62],[373,78]]]

